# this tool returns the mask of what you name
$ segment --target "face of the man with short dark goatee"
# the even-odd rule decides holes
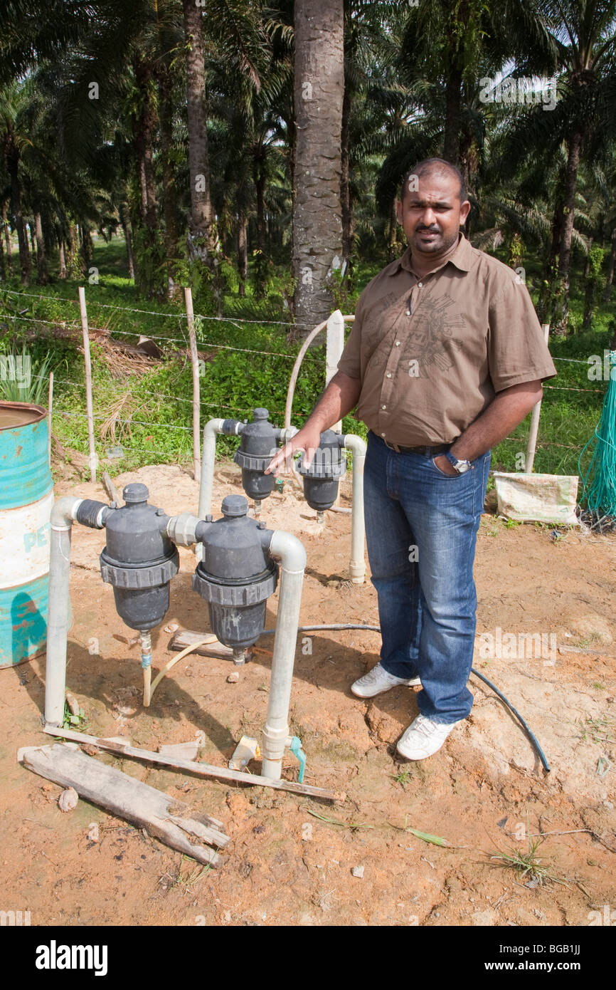
[[[458,196],[455,175],[434,172],[410,177],[402,202],[396,202],[396,216],[413,254],[438,257],[458,242],[471,209],[469,201],[461,203]]]

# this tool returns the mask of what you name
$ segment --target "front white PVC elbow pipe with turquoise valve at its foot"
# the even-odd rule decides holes
[[[263,754],[261,773],[272,780],[280,780],[285,747],[289,740],[289,705],[298,642],[306,550],[297,537],[285,533],[284,530],[274,532],[269,550],[273,557],[280,558],[282,574],[269,702],[261,736]]]

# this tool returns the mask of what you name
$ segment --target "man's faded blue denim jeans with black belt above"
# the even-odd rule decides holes
[[[417,705],[434,722],[466,719],[473,706],[477,593],[473,562],[490,453],[461,475],[434,459],[396,453],[368,434],[366,542],[379,598],[381,663],[421,678]]]

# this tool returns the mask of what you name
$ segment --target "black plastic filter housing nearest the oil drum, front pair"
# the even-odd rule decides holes
[[[101,575],[114,587],[119,616],[131,629],[145,631],[158,626],[167,613],[178,551],[161,532],[162,510],[149,505],[145,485],[127,485],[122,494],[126,505],[111,510],[106,520]]]

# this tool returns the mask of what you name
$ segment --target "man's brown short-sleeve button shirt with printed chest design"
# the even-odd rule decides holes
[[[338,370],[361,379],[358,418],[400,446],[453,443],[496,392],[556,374],[521,278],[464,235],[427,275],[406,248],[369,282]]]

